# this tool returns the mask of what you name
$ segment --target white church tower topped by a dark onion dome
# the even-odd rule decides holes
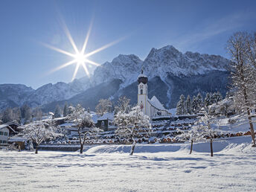
[[[141,107],[141,111],[145,115],[150,117],[150,106],[148,106],[147,100],[147,76],[141,70],[141,74],[138,75],[138,106]]]

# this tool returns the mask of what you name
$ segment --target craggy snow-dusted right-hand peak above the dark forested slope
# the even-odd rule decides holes
[[[172,45],[164,48],[152,48],[144,60],[143,68],[149,77],[166,77],[167,74],[176,76],[191,76],[205,74],[208,71],[225,71],[229,60],[208,54],[178,51]]]

